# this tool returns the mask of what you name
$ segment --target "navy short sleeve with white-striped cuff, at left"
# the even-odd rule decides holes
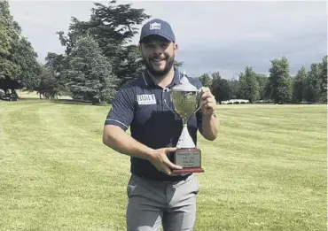
[[[105,125],[116,125],[126,131],[134,116],[134,98],[132,89],[118,91],[113,100],[113,106],[105,119]]]

